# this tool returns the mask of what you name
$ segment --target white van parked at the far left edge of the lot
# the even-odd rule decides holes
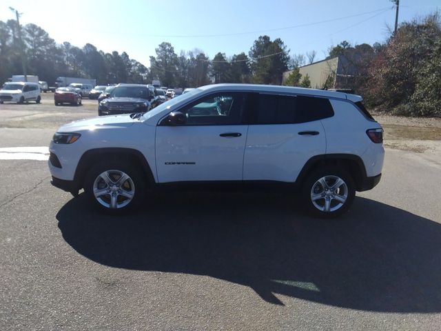
[[[41,102],[40,86],[38,83],[16,81],[4,83],[0,90],[0,103],[4,101],[24,103],[25,101]]]

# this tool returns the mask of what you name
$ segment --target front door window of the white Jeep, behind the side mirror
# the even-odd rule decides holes
[[[188,94],[186,94],[188,95]],[[187,117],[187,125],[211,126],[242,123],[245,93],[214,94],[180,110]]]

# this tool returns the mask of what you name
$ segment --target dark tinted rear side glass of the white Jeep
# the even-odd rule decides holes
[[[304,123],[334,115],[325,98],[260,94],[254,106],[257,124]]]

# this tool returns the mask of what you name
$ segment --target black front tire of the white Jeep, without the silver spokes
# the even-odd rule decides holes
[[[111,188],[103,177],[101,177],[103,173],[107,173],[108,177],[113,180],[112,184],[117,184],[121,178],[119,176],[122,173],[127,174],[129,179],[123,181],[123,183],[119,183],[119,187]],[[103,195],[101,195],[101,197],[95,197],[94,186],[103,189]],[[101,161],[88,170],[85,176],[84,190],[88,201],[90,201],[95,208],[108,214],[121,214],[133,210],[143,201],[146,186],[145,176],[140,172],[137,165],[111,159]],[[123,193],[120,194],[121,192]],[[128,203],[127,200],[129,200],[129,198],[124,195],[127,193],[133,193],[133,197]],[[114,194],[116,199],[116,208],[111,208],[112,194]]]

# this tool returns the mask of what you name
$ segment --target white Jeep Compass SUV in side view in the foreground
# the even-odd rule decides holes
[[[288,183],[334,217],[381,177],[382,128],[354,94],[247,84],[203,86],[150,112],[59,128],[52,184],[119,212],[163,183]],[[285,185],[286,186],[286,185]]]

